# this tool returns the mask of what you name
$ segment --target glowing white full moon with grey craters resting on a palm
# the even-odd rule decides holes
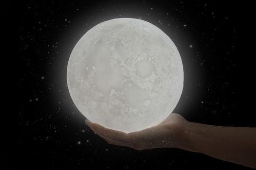
[[[73,49],[67,84],[92,122],[126,133],[158,125],[183,89],[177,47],[155,25],[135,18],[101,22]]]

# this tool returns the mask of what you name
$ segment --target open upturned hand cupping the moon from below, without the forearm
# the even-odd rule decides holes
[[[180,140],[185,132],[184,126],[187,124],[187,120],[176,113],[171,113],[157,126],[128,134],[104,128],[88,119],[85,120],[85,123],[109,144],[126,146],[136,150],[164,147],[186,149],[180,145]]]

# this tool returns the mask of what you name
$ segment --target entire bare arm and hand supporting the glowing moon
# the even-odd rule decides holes
[[[109,144],[138,151],[179,148],[256,169],[256,128],[194,123],[176,113],[157,126],[128,134],[104,128],[88,119],[85,123]]]

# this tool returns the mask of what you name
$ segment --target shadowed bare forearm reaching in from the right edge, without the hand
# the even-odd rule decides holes
[[[182,129],[181,149],[256,168],[256,128],[188,122]]]

